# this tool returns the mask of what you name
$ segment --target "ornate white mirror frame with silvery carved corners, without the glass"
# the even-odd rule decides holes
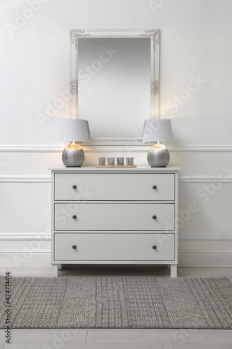
[[[147,30],[70,30],[70,118],[78,118],[78,39],[150,38],[150,118],[159,118],[160,29]],[[91,125],[90,125],[91,126]],[[143,121],[141,123],[141,128]],[[139,138],[137,138],[139,140]],[[135,138],[92,138],[93,145],[135,145]],[[137,144],[138,145],[138,144]],[[141,143],[139,144],[141,145]]]

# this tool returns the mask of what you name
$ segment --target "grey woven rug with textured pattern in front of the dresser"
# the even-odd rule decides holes
[[[4,277],[0,285],[4,328]],[[12,278],[10,305],[12,328],[232,328],[226,278]]]

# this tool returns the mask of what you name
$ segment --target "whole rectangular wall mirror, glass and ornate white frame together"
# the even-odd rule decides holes
[[[70,117],[91,144],[133,143],[159,114],[160,30],[70,30]]]

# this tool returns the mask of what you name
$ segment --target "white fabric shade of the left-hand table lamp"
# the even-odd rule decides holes
[[[87,120],[61,119],[59,140],[88,142],[90,131]]]

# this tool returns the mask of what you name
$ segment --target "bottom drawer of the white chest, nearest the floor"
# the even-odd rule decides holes
[[[175,260],[174,234],[54,234],[54,260]],[[73,248],[76,246],[76,248]]]

